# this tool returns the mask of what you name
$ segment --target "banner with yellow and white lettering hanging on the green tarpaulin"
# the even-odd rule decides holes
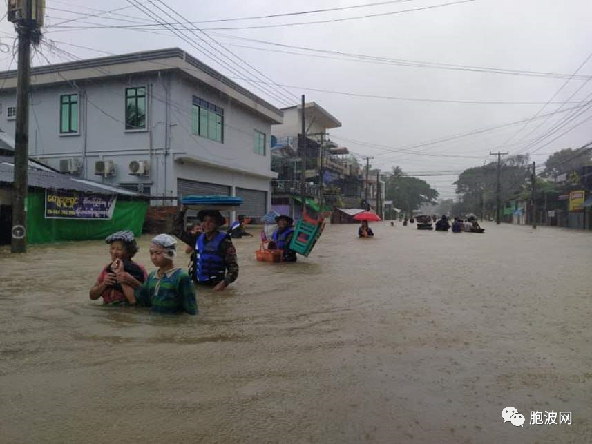
[[[77,191],[45,191],[46,219],[111,219],[115,195],[79,193]]]

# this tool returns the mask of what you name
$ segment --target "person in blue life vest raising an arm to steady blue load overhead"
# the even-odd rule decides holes
[[[195,248],[189,265],[189,276],[193,282],[213,286],[221,291],[238,278],[236,249],[227,233],[219,231],[224,218],[218,210],[202,210],[198,219],[202,221],[202,233],[189,233],[184,229],[183,206],[175,215],[171,234]]]

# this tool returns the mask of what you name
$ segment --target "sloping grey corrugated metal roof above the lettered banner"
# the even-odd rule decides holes
[[[10,162],[9,162],[10,160]],[[15,166],[12,164],[14,160],[10,157],[0,158],[0,182],[5,184],[12,184],[15,182]],[[90,180],[75,179],[64,174],[51,171],[49,168],[39,169],[31,166],[29,163],[28,170],[28,186],[43,188],[43,189],[60,189],[71,191],[84,191],[86,193],[97,194],[119,194],[135,197],[146,197],[140,193],[134,193],[115,186],[99,184]]]

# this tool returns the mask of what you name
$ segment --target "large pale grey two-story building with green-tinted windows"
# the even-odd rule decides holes
[[[13,135],[17,72],[0,73],[0,82],[0,128]],[[244,199],[240,213],[265,214],[277,176],[271,125],[281,123],[282,110],[179,48],[31,73],[30,157],[149,194],[153,204],[236,195]]]

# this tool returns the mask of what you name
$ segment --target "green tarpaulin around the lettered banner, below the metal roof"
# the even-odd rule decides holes
[[[108,220],[46,219],[45,192],[30,191],[27,196],[27,243],[104,239],[120,230],[131,230],[134,235],[140,235],[148,203],[146,200],[122,200],[118,196],[113,218]]]

